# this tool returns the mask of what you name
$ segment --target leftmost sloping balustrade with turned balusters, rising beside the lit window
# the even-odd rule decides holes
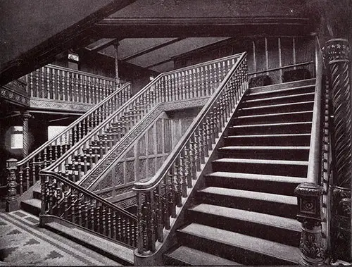
[[[34,150],[22,161],[19,161],[16,175],[19,187],[18,193],[21,195],[27,191],[39,180],[40,170],[50,166],[63,156],[74,144],[79,142],[84,136],[87,136],[92,129],[96,128],[111,113],[122,106],[130,98],[130,90],[130,83],[123,85],[101,101],[100,104],[94,106],[75,122],[68,125],[63,132],[42,144],[41,147]]]

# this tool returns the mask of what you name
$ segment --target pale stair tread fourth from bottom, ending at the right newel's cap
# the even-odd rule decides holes
[[[244,199],[256,199],[261,201],[277,202],[282,204],[297,205],[297,198],[283,194],[269,194],[266,192],[255,192],[249,190],[238,190],[224,187],[206,187],[199,192],[209,194],[220,194],[227,197],[241,197]]]

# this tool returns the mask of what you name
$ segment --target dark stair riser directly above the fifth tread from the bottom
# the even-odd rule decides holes
[[[283,175],[306,178],[307,166],[297,165],[274,165],[264,163],[227,163],[227,162],[213,162],[213,171],[225,171],[230,173],[256,173],[268,175]]]

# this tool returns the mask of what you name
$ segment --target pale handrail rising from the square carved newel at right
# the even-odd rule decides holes
[[[315,82],[315,96],[313,107],[313,122],[312,131],[310,135],[310,148],[308,158],[308,182],[313,182],[318,185],[320,173],[320,152],[321,152],[321,132],[322,132],[322,56],[319,54],[320,49],[316,49],[316,82]]]

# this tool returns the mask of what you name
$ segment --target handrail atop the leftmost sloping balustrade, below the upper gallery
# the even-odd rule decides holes
[[[18,161],[17,166],[22,166],[23,164],[27,163],[27,161],[30,161],[30,159],[33,159],[34,156],[36,156],[40,151],[43,151],[49,144],[53,143],[56,139],[58,139],[58,137],[65,135],[66,133],[68,133],[75,125],[79,124],[80,122],[82,122],[82,120],[84,120],[85,118],[87,118],[89,116],[90,113],[92,113],[93,111],[95,111],[96,109],[100,108],[101,106],[103,106],[103,104],[106,104],[106,102],[108,102],[109,100],[111,100],[113,97],[115,97],[116,94],[119,94],[120,92],[122,92],[124,89],[126,89],[126,87],[129,87],[131,84],[130,82],[123,85],[122,87],[120,87],[120,89],[116,90],[115,92],[113,92],[113,94],[109,95],[108,97],[106,97],[106,99],[104,99],[103,101],[101,101],[99,104],[97,104],[96,106],[92,107],[91,109],[89,109],[89,111],[87,111],[86,113],[84,113],[83,116],[80,116],[79,119],[75,120],[73,123],[71,123],[70,125],[68,125],[68,127],[63,130],[63,132],[59,133],[58,135],[56,135],[55,137],[49,139],[48,141],[46,141],[44,144],[42,144],[40,147],[38,147],[37,149],[35,149],[34,151],[32,151],[32,153],[30,153],[25,159]]]

